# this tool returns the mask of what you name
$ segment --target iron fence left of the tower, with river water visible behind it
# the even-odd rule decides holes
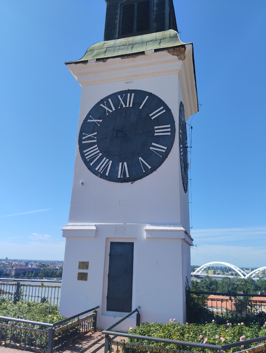
[[[18,282],[0,282],[0,296],[18,300],[49,301],[52,305],[59,305],[61,286],[47,286],[41,284],[27,284]]]

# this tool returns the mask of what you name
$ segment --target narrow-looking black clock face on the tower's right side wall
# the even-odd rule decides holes
[[[179,106],[179,154],[184,191],[188,191],[188,142],[184,104]]]

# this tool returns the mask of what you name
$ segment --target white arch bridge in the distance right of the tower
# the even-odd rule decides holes
[[[191,272],[191,276],[266,278],[266,266],[247,273],[230,263],[213,261],[208,262],[197,268],[194,272]]]

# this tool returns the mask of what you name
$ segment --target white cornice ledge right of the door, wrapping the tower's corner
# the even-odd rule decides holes
[[[192,245],[193,239],[182,225],[151,225],[144,229],[146,238],[172,238],[184,239],[187,243]]]

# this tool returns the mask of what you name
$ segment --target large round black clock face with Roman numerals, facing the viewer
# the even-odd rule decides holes
[[[124,90],[102,98],[79,131],[85,166],[105,180],[128,183],[147,177],[165,161],[175,139],[175,120],[159,97]]]

